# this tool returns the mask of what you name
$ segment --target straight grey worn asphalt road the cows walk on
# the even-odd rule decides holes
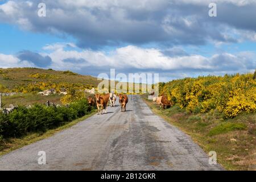
[[[119,103],[118,103],[119,104]],[[46,164],[38,164],[38,152]],[[153,114],[139,96],[47,139],[0,157],[0,170],[221,170],[188,135]]]

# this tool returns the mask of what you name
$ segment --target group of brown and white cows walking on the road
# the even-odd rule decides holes
[[[126,111],[126,104],[128,102],[128,97],[125,94],[114,94],[114,93],[107,93],[105,95],[95,94],[94,97],[89,96],[88,103],[90,106],[94,106],[96,104],[98,109],[98,114],[103,114],[103,110],[108,106],[108,101],[110,102],[111,107],[115,107],[115,101],[119,97],[119,104],[121,106],[121,112]]]

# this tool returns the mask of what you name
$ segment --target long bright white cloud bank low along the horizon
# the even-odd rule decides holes
[[[40,55],[51,59],[46,68],[56,70],[72,70],[84,75],[97,76],[99,73],[108,73],[110,68],[115,68],[123,73],[157,72],[162,81],[168,78],[182,78],[185,76],[199,75],[223,75],[225,73],[253,72],[256,68],[255,53],[238,52],[236,54],[221,53],[211,57],[201,55],[188,55],[180,48],[172,48],[177,51],[164,54],[163,50],[155,48],[139,48],[126,46],[114,49],[110,52],[66,50],[66,46],[72,43],[50,44],[44,47],[49,53],[42,52]],[[167,51],[170,51],[169,49]],[[184,50],[183,50],[184,51]],[[28,61],[20,61],[13,55],[0,54],[0,67],[36,67]],[[42,61],[42,60],[38,60]],[[42,63],[43,64],[43,63]]]

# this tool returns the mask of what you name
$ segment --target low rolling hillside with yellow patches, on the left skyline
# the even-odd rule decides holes
[[[39,68],[0,68],[1,87],[14,90],[20,86],[28,86],[36,83],[56,84],[80,84],[96,87],[100,81],[96,77],[79,75],[69,71],[54,71],[52,69]],[[3,90],[1,90],[3,92]]]

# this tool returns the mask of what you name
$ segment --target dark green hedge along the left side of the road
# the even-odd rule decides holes
[[[91,110],[85,99],[68,107],[34,105],[27,109],[19,106],[10,114],[0,112],[0,138],[21,137],[29,132],[44,132],[89,114]]]

